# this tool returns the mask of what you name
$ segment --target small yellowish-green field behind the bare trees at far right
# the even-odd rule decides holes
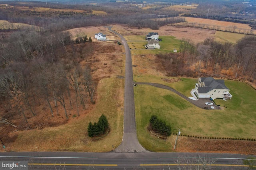
[[[243,38],[244,34],[237,34],[232,32],[216,31],[215,40],[219,42],[231,42],[236,43],[238,40]]]

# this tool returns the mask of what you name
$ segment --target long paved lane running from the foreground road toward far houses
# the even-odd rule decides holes
[[[131,51],[124,37],[118,32],[111,30],[111,28],[112,27],[108,27],[108,30],[112,31],[121,38],[126,52],[124,84],[124,133],[122,143],[115,149],[115,152],[146,152],[146,149],[140,145],[136,133]]]

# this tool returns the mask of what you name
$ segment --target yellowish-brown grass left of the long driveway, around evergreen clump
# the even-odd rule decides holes
[[[102,79],[98,85],[98,93],[101,95],[90,114],[71,118],[68,124],[59,127],[30,130],[29,133],[19,132],[17,142],[14,142],[8,150],[12,151],[16,148],[14,151],[111,151],[112,145],[117,147],[122,140],[123,89],[124,79]],[[110,131],[104,138],[94,141],[87,135],[87,126],[90,121],[97,122],[102,114],[108,119]],[[16,133],[14,132],[13,135],[15,136]]]

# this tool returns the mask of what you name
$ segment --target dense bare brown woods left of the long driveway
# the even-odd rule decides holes
[[[67,105],[76,108],[79,116],[79,107],[86,109],[87,98],[94,103],[90,65],[82,69],[79,63],[90,59],[94,46],[87,40],[83,42],[75,45],[68,32],[45,36],[33,30],[4,38],[0,50],[0,100],[5,101],[7,113],[2,117],[16,109],[28,123],[24,107],[35,116],[35,106],[46,102],[52,117],[59,115],[58,107],[62,106],[68,119]]]

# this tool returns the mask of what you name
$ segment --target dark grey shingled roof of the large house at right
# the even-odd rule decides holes
[[[204,87],[198,87],[199,93],[207,93],[214,89],[228,89],[225,86],[224,80],[215,80],[212,77],[201,77],[201,82],[204,82]]]

